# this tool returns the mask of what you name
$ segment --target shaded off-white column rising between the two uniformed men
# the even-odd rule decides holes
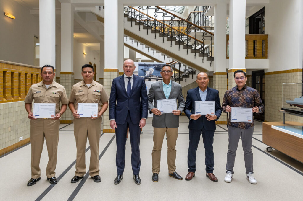
[[[61,71],[74,72],[74,9],[61,3]]]

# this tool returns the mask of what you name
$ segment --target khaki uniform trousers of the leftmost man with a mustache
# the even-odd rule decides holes
[[[48,152],[46,176],[48,178],[55,177],[60,120],[59,119],[54,120],[51,118],[48,119],[38,118],[38,119],[32,119],[30,121],[30,125],[31,125],[31,146],[32,146],[32,159],[31,159],[32,178],[37,179],[41,175],[39,164],[40,164],[40,158],[44,144],[44,138],[46,141],[46,147]]]

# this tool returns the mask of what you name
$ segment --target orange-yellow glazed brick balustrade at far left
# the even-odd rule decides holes
[[[41,67],[0,60],[0,103],[23,101],[32,84],[41,81]]]

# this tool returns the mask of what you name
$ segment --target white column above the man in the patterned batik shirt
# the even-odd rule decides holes
[[[245,5],[229,1],[229,69],[245,69]]]

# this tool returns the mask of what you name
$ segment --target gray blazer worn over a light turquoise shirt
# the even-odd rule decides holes
[[[148,111],[151,112],[151,109],[157,108],[157,100],[166,99],[163,92],[162,80],[152,83],[151,88],[148,93]],[[185,107],[185,100],[182,95],[182,87],[180,84],[171,81],[171,93],[169,94],[168,99],[177,99],[178,101],[178,110],[183,111]],[[152,104],[154,101],[155,106]],[[165,113],[161,115],[153,115],[152,126],[157,128],[177,128],[179,127],[179,116],[173,115],[172,113]]]

